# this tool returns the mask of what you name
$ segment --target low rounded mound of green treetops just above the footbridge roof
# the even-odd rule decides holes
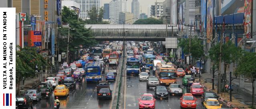
[[[163,24],[163,21],[155,18],[138,19],[133,24]]]

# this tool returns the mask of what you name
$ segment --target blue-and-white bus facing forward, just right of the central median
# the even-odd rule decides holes
[[[127,74],[139,74],[140,60],[127,58]]]

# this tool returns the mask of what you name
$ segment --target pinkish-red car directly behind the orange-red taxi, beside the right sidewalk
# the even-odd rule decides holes
[[[200,83],[192,83],[190,86],[190,93],[193,95],[202,95],[204,94],[204,87]]]

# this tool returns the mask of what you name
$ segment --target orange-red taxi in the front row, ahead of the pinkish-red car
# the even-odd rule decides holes
[[[185,93],[180,98],[180,107],[182,108],[194,108],[196,109],[196,97],[191,93]]]

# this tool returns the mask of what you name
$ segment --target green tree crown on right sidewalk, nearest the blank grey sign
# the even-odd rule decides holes
[[[192,58],[201,58],[204,56],[204,46],[198,38],[191,38],[190,53]],[[189,39],[179,39],[178,46],[181,47],[185,54],[189,54]]]

